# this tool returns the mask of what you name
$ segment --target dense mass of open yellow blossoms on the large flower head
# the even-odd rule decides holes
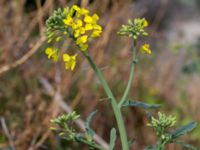
[[[99,17],[97,14],[89,15],[89,11],[80,8],[77,5],[67,13],[66,18],[63,20],[66,27],[70,28],[71,35],[76,40],[76,44],[81,51],[88,49],[88,39],[99,37],[102,32],[102,27],[97,24]]]

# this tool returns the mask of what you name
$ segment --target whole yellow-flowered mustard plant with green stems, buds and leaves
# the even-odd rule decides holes
[[[62,55],[62,59],[65,63],[66,70],[73,71],[76,66],[76,59],[78,57],[78,52],[83,54],[87,59],[91,68],[94,70],[99,81],[101,82],[112,106],[113,113],[117,122],[118,130],[115,128],[111,129],[110,133],[110,143],[109,150],[115,149],[115,140],[116,132],[119,132],[122,150],[129,150],[130,145],[128,142],[128,137],[126,134],[126,128],[124,120],[122,117],[121,109],[127,106],[141,107],[144,109],[148,108],[157,108],[159,105],[146,104],[140,101],[131,101],[128,99],[129,91],[134,77],[134,68],[135,64],[138,62],[137,54],[138,52],[151,54],[151,49],[149,44],[143,44],[138,49],[137,41],[139,37],[147,36],[148,33],[145,31],[145,28],[148,26],[146,19],[137,18],[129,20],[126,25],[122,25],[122,28],[119,30],[118,34],[123,36],[128,36],[133,40],[132,48],[132,59],[130,61],[130,75],[128,79],[127,86],[124,90],[122,98],[117,101],[114,97],[107,81],[105,80],[101,70],[96,66],[94,60],[89,54],[89,41],[93,38],[97,38],[101,35],[102,27],[98,24],[99,16],[97,14],[90,15],[89,10],[85,8],[80,8],[77,5],[72,6],[71,8],[66,7],[64,9],[56,10],[53,15],[47,20],[47,43],[49,47],[46,48],[45,53],[49,59],[57,61],[59,55]],[[77,51],[74,51],[73,54],[63,53],[57,46],[59,42],[65,41],[67,38],[70,38],[74,44],[77,46]],[[90,127],[90,122],[96,112],[92,112],[85,122],[85,131],[83,133],[78,133],[75,130],[73,122],[78,119],[80,116],[76,112],[72,112],[67,115],[62,115],[52,120],[52,123],[56,124],[56,128],[52,130],[56,131],[60,136],[81,143],[85,143],[91,148],[99,150],[107,150],[95,143],[93,136],[95,132]],[[156,131],[156,135],[159,140],[156,146],[148,147],[147,149],[154,150],[163,150],[165,145],[171,142],[174,142],[175,139],[190,130],[192,130],[196,124],[188,124],[187,126],[178,129],[174,133],[166,134],[166,128],[173,127],[176,120],[174,117],[167,117],[164,114],[159,113],[159,119],[150,117],[150,123],[148,124]]]

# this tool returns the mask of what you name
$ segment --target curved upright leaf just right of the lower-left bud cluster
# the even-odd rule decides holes
[[[97,110],[91,112],[85,121],[85,130],[86,130],[87,134],[90,135],[91,137],[94,136],[95,132],[90,128],[90,123],[96,113],[97,113]]]

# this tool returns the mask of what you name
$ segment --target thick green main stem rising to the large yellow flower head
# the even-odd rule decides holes
[[[117,102],[115,100],[115,97],[113,96],[112,91],[110,90],[110,87],[108,86],[107,82],[105,81],[102,72],[96,66],[96,64],[92,60],[91,56],[88,53],[83,53],[83,54],[87,58],[89,64],[91,65],[92,69],[94,70],[97,77],[99,78],[106,94],[108,95],[108,97],[111,101],[112,109],[114,111],[114,115],[115,115],[117,125],[118,125],[118,129],[119,129],[119,134],[120,134],[121,143],[122,143],[122,149],[123,150],[129,150],[129,144],[128,144],[128,139],[127,139],[127,135],[126,135],[126,128],[125,128],[125,125],[124,125],[124,120],[123,120],[123,117],[122,117],[121,110],[118,107]]]

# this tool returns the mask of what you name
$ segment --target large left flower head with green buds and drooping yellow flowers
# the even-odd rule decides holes
[[[51,43],[52,40],[60,42],[63,40],[63,35],[67,35],[75,41],[82,52],[85,52],[88,49],[88,40],[99,37],[102,32],[102,27],[97,24],[99,16],[89,13],[87,9],[80,8],[77,5],[65,8],[63,11],[61,9],[56,11],[48,21],[48,43]],[[54,30],[55,26],[57,28]],[[60,31],[62,34],[60,34]],[[58,61],[58,52],[58,49],[53,47],[48,47],[45,50],[47,57],[53,61]],[[66,70],[74,70],[77,55],[76,53],[74,55],[67,53],[62,55]]]

